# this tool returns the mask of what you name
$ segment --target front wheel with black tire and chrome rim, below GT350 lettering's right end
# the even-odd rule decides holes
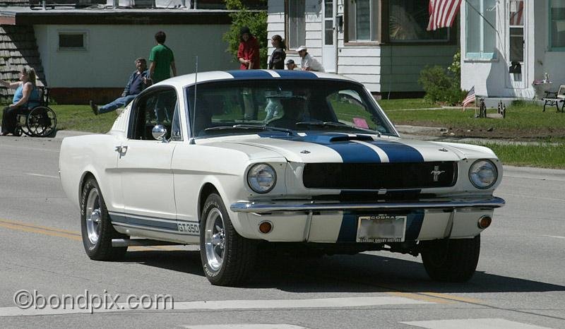
[[[220,286],[239,285],[253,272],[256,253],[256,241],[236,232],[222,198],[210,194],[200,221],[200,257],[208,281]]]

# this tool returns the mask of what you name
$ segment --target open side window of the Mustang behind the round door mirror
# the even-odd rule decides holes
[[[133,121],[131,121],[129,138],[155,140],[153,127],[161,124],[167,128],[167,138],[171,137],[174,126],[179,134],[174,140],[178,138],[182,140],[177,107],[177,92],[174,89],[157,90],[141,97],[132,109]]]

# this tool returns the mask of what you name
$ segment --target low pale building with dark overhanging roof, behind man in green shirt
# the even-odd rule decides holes
[[[179,74],[194,72],[196,56],[199,71],[239,67],[222,40],[231,25],[229,11],[182,8],[181,0],[157,0],[154,8],[147,6],[155,1],[121,0],[118,8],[112,0],[74,2],[92,6],[0,7],[2,78],[17,80],[20,67],[30,65],[59,104],[107,102],[120,95],[134,60],[148,58],[159,30],[167,34]],[[11,99],[12,90],[1,92]]]

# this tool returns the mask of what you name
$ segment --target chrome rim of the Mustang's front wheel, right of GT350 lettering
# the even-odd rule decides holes
[[[222,268],[225,254],[224,217],[218,208],[213,208],[206,217],[206,232],[204,232],[206,258],[211,270]]]

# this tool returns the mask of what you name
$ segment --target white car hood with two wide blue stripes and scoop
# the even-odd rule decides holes
[[[299,136],[261,134],[224,140],[223,143],[228,148],[229,144],[236,144],[237,148],[242,145],[262,148],[277,152],[290,162],[304,163],[429,162],[495,157],[488,148],[475,145],[348,133],[300,133]]]

